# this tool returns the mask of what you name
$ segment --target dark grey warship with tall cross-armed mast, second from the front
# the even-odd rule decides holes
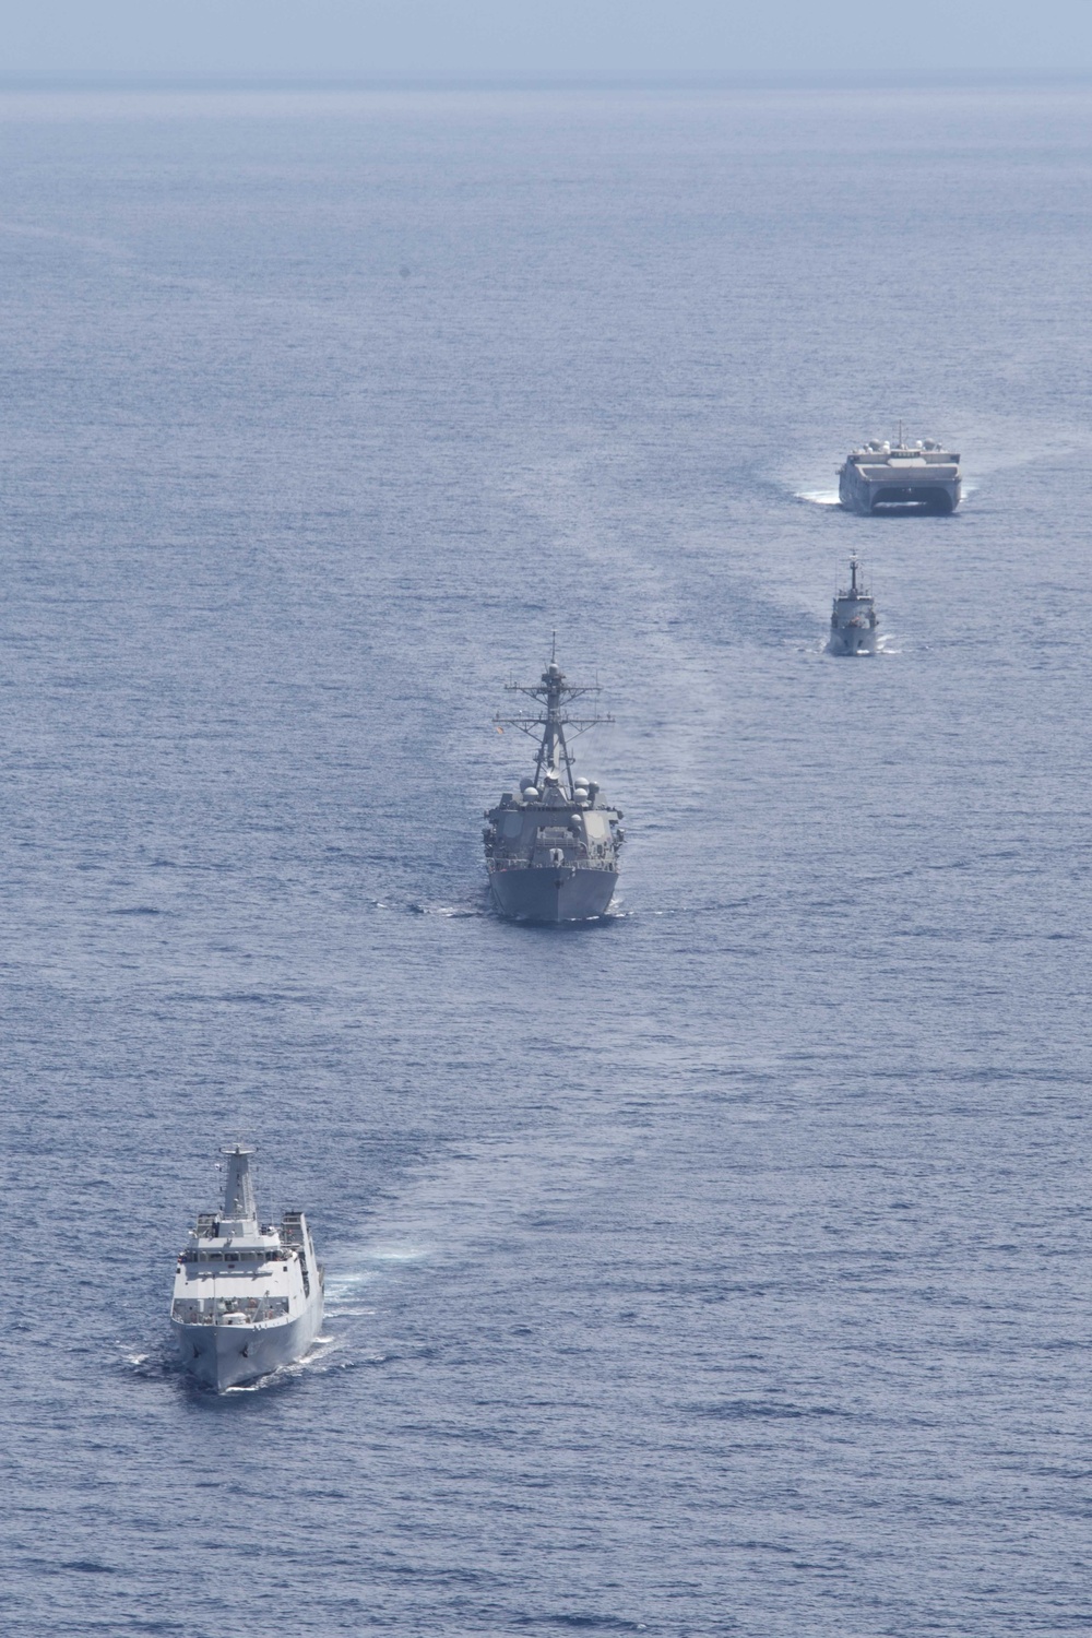
[[[614,717],[571,717],[566,706],[598,693],[566,681],[557,649],[537,686],[509,683],[511,693],[539,704],[534,716],[493,721],[539,740],[534,776],[519,796],[506,791],[486,811],[485,862],[493,901],[503,916],[532,922],[588,921],[602,916],[614,896],[622,811],[604,803],[594,780],[573,773],[570,737]]]

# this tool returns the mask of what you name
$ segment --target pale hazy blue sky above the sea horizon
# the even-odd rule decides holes
[[[1092,74],[1092,0],[0,0],[0,79]]]

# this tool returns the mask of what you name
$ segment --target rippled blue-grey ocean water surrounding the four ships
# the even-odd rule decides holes
[[[0,1625],[1087,1631],[1092,90],[0,134]],[[899,418],[954,518],[830,505]],[[535,930],[555,629],[629,842]],[[237,1135],[329,1312],[216,1399]]]

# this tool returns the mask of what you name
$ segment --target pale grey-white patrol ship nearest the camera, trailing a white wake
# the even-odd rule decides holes
[[[183,1366],[223,1392],[303,1358],[323,1324],[323,1269],[303,1212],[259,1224],[252,1148],[228,1156],[224,1206],[178,1253],[170,1325]]]

